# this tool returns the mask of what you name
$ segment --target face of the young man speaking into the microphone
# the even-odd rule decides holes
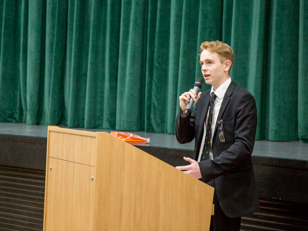
[[[224,63],[222,64],[216,52],[203,50],[200,55],[200,64],[203,78],[206,84],[210,84],[216,90],[224,78]]]

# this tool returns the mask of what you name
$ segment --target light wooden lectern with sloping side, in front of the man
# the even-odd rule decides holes
[[[213,194],[109,133],[48,127],[44,231],[209,230]]]

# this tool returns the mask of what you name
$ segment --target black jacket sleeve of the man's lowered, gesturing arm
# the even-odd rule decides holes
[[[234,110],[236,110],[235,142],[217,158],[199,162],[203,182],[209,182],[232,172],[253,151],[257,128],[257,108],[253,96],[249,93],[242,95]]]

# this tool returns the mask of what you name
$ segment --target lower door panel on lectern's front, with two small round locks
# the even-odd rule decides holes
[[[93,230],[95,167],[48,158],[45,231]]]

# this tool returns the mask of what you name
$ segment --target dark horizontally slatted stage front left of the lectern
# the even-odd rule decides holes
[[[0,230],[43,230],[45,171],[0,166]]]

